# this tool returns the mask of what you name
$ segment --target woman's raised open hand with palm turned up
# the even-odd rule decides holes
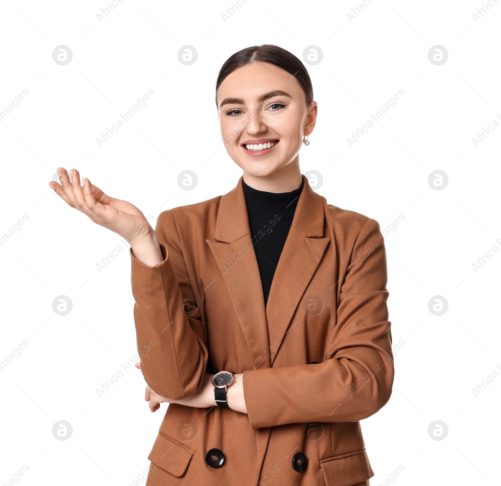
[[[51,181],[49,186],[72,208],[86,214],[94,223],[118,233],[129,243],[140,241],[153,231],[144,214],[133,204],[115,199],[84,178],[80,184],[80,174],[71,169],[72,180],[63,167],[58,168],[61,184]]]

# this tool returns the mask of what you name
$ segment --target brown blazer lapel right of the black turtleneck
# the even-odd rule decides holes
[[[296,324],[291,322],[292,317],[331,241],[328,235],[324,236],[324,198],[313,191],[306,176],[302,177],[305,185],[275,269],[266,306],[269,342],[274,349],[272,366],[288,328]],[[332,272],[334,275],[334,268]]]

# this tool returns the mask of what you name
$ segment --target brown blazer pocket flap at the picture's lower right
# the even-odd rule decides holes
[[[322,459],[320,466],[327,486],[352,486],[374,475],[365,450],[348,456]]]

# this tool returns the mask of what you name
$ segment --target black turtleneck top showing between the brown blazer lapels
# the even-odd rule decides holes
[[[301,186],[294,191],[277,193],[258,191],[242,179],[250,237],[258,260],[265,306],[304,184],[303,179]]]

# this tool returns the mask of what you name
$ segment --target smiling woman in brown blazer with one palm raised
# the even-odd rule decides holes
[[[216,105],[243,175],[162,212],[155,231],[75,169],[50,183],[131,244],[145,399],[170,403],[147,485],[367,486],[359,420],[388,401],[394,372],[379,224],[327,204],[301,174],[317,103],[298,58],[237,52]]]

